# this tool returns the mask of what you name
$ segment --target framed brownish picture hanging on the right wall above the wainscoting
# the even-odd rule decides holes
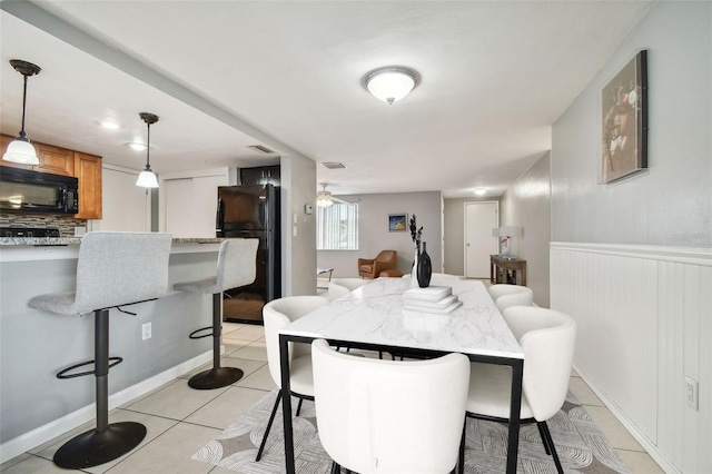
[[[621,69],[601,92],[601,182],[647,168],[646,50]]]

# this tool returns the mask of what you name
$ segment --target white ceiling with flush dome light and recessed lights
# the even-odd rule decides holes
[[[551,126],[649,1],[13,1],[0,3],[0,129],[157,172],[317,166],[335,195],[501,195],[551,147]],[[363,77],[422,77],[393,106]],[[103,119],[119,125],[102,129]],[[274,154],[248,148],[261,145]],[[319,188],[320,189],[320,188]]]

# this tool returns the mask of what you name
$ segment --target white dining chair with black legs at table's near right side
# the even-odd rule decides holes
[[[503,313],[524,352],[522,378],[522,423],[536,423],[544,450],[558,473],[563,473],[546,421],[561,409],[568,391],[568,378],[576,340],[576,324],[563,313],[513,306]],[[506,422],[510,417],[512,371],[494,364],[471,364],[467,416]],[[464,444],[461,446],[461,470]]]

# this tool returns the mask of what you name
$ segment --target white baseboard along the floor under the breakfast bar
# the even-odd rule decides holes
[[[225,350],[222,348],[222,350]],[[136,399],[150,391],[160,387],[161,385],[180,377],[184,374],[200,367],[201,365],[212,359],[212,350],[200,354],[189,361],[178,364],[167,371],[161,372],[146,381],[139,382],[136,385],[127,387],[121,392],[117,392],[109,396],[109,409],[113,409],[117,406],[121,406],[126,403]],[[42,443],[67,433],[70,429],[76,428],[82,423],[87,423],[96,417],[96,404],[87,405],[72,413],[69,413],[61,418],[39,426],[28,433],[12,438],[0,445],[0,464],[26,453]]]

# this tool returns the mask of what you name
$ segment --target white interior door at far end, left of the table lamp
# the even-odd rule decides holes
[[[497,201],[465,203],[465,277],[490,278],[490,256],[500,251],[492,229],[500,227]]]

